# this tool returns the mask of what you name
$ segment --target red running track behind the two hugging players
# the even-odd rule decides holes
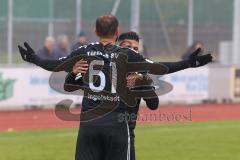
[[[74,109],[73,112],[78,112]],[[176,123],[240,120],[240,104],[167,105],[156,111],[141,107],[138,123]],[[0,112],[0,131],[77,128],[77,121],[62,121],[53,110]]]

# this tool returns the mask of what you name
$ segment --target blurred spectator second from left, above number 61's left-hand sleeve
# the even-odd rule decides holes
[[[53,50],[54,54],[57,55],[57,58],[66,57],[69,50],[69,39],[66,35],[60,35],[57,38],[57,46]]]

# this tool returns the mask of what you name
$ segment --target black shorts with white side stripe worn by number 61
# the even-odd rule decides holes
[[[81,125],[75,160],[130,160],[128,124]]]

